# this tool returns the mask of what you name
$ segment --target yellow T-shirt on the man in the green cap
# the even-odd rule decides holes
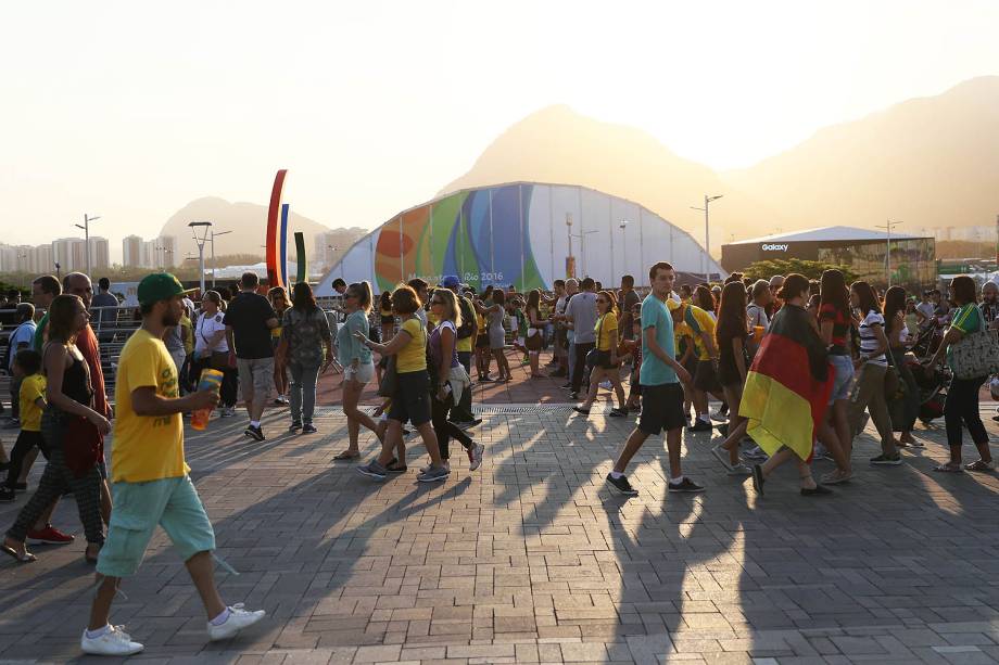
[[[181,477],[190,471],[184,461],[184,421],[180,413],[138,415],[131,406],[137,388],[152,387],[165,398],[179,396],[177,368],[166,345],[139,329],[128,338],[118,360],[115,385],[115,425],[111,448],[114,483],[146,483]]]

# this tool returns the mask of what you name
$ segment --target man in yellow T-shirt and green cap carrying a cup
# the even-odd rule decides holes
[[[115,386],[115,507],[98,559],[100,584],[90,623],[80,639],[84,652],[97,655],[131,655],[143,649],[109,618],[121,578],[136,573],[157,525],[180,552],[198,588],[211,640],[228,639],[264,617],[263,610],[246,612],[222,601],[212,562],[215,532],[184,459],[180,413],[211,409],[218,401],[214,391],[178,396],[177,367],[163,333],[180,322],[184,286],[172,274],[150,274],[139,282],[137,295],[142,327],[122,349]]]

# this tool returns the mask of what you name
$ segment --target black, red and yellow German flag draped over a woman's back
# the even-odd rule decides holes
[[[809,459],[834,378],[810,315],[785,305],[774,315],[746,375],[738,413],[749,421],[747,433],[768,455],[786,446]]]

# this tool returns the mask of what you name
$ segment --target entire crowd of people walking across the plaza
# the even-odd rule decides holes
[[[333,368],[342,374],[349,433],[333,459],[359,459],[363,426],[380,450],[356,471],[378,481],[405,474],[408,424],[429,458],[417,481],[440,482],[452,473],[451,439],[470,472],[482,464],[484,446],[468,434],[481,423],[471,404],[472,362],[476,382],[508,382],[510,353],[522,354],[531,380],[565,378],[569,397],[583,398],[574,407],[581,417],[591,414],[602,387],[612,392],[610,418],[638,413],[606,478],[624,495],[638,494],[625,475],[629,462],[661,433],[669,491],[703,491],[682,472],[684,429],[697,436],[717,427],[724,439],[713,456],[726,473],[751,476],[760,495],[774,469],[791,460],[804,496],[827,495],[829,485],[850,481],[852,442],[868,418],[882,448],[871,464],[900,464],[901,449],[921,445],[912,435],[916,420],[943,415],[950,459],[936,470],[995,469],[978,395],[999,372],[996,284],[985,284],[979,302],[975,282],[958,277],[948,297],[930,291],[915,302],[899,286],[883,294],[862,281],[847,286],[838,270],[818,281],[736,273],[724,284],[674,287],[675,280],[672,266],[657,263],[644,297],[632,276],[621,278],[619,290],[585,278],[527,294],[513,286],[479,293],[447,276],[434,287],[414,279],[376,298],[369,283],[338,279],[338,305],[324,310],[307,283],[289,296],[283,289],[262,291],[252,272],[238,293],[206,291],[195,307],[175,277],[155,273],[140,282],[138,329],[125,334],[106,279],[94,294],[79,272],[61,281],[39,277],[33,303],[11,294],[0,304],[0,316],[15,319],[3,358],[12,375],[4,426],[20,430],[9,459],[0,447],[0,470],[8,472],[0,500],[27,489],[38,452],[47,460],[0,550],[27,563],[36,560],[29,540],[72,541],[51,524],[60,498],[72,493],[85,558],[99,577],[81,648],[128,655],[143,647],[110,624],[112,601],[162,526],[200,592],[210,639],[229,638],[264,612],[227,605],[219,596],[215,535],[188,475],[184,417],[217,408],[219,418],[231,418],[241,398],[244,435],[265,442],[262,418],[274,398],[289,407],[289,432],[314,434],[318,379]],[[113,410],[101,344],[123,344]],[[217,391],[199,385],[206,370],[220,374]],[[380,402],[369,413],[359,402],[372,382]],[[713,413],[710,397],[721,405]],[[103,439],[112,419],[109,471]],[[965,427],[978,452],[966,464]],[[817,457],[835,463],[819,481],[811,474]]]

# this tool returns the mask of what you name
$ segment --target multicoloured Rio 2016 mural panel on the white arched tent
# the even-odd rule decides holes
[[[378,231],[375,274],[378,289],[401,279],[439,280],[458,274],[463,282],[542,287],[526,238],[531,188],[475,190],[403,213]]]

